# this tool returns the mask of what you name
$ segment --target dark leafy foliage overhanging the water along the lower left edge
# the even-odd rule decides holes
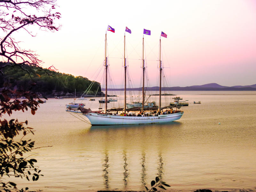
[[[25,96],[26,99],[19,100],[11,98],[8,95]],[[33,133],[33,128],[28,127],[28,121],[19,122],[17,119],[7,121],[3,119],[3,115],[11,116],[13,111],[31,110],[31,114],[35,114],[39,104],[43,103],[39,97],[30,91],[12,91],[11,89],[2,89],[0,94],[0,189],[11,191],[17,189],[14,182],[4,182],[6,177],[21,177],[27,180],[38,180],[40,175],[39,170],[35,167],[36,159],[24,156],[25,153],[35,149],[35,141],[26,139],[26,135]],[[15,139],[16,136],[22,135],[21,139]],[[25,190],[27,190],[26,188]],[[20,189],[20,191],[24,191]]]

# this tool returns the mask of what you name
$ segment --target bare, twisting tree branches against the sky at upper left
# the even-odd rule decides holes
[[[54,12],[55,6],[55,0],[0,0],[0,30],[5,34],[0,36],[0,56],[3,61],[21,68],[24,64],[41,66],[38,55],[30,49],[21,49],[20,42],[12,35],[24,29],[29,35],[35,36],[29,30],[31,25],[38,26],[40,30],[58,31],[61,26],[56,24],[56,19],[60,19],[61,14]]]

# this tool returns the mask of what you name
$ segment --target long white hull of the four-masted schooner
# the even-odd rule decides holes
[[[180,119],[183,111],[159,116],[115,116],[98,113],[83,114],[78,111],[69,111],[86,116],[92,125],[126,125],[126,124],[148,124],[148,123],[168,123]]]

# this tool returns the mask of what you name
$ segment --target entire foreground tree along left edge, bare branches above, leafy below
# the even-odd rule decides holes
[[[4,61],[0,65],[0,75],[4,75],[2,70],[7,66],[18,66],[28,75],[30,74],[25,66],[41,68],[42,61],[38,59],[38,55],[30,49],[21,48],[19,44],[22,39],[16,40],[13,35],[25,30],[29,35],[35,36],[35,27],[45,31],[58,31],[61,26],[56,24],[56,19],[60,19],[61,14],[55,12],[55,6],[55,0],[0,0],[0,58]],[[53,66],[49,69],[55,70]],[[24,90],[13,90],[5,82],[0,88],[0,190],[18,190],[14,182],[8,181],[8,177],[35,181],[40,176],[40,170],[35,166],[36,159],[25,156],[25,153],[35,149],[35,141],[26,139],[28,133],[34,134],[33,129],[27,126],[28,121],[3,119],[4,114],[11,116],[17,110],[31,110],[35,114],[43,101],[31,91],[33,86],[35,83],[28,84]],[[11,96],[15,99],[11,100]],[[17,99],[21,96],[26,99]],[[15,140],[17,135],[23,136],[20,140]]]

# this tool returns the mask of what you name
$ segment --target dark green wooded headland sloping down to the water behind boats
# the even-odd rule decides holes
[[[4,65],[6,65],[5,62],[0,62],[0,66]],[[86,77],[75,77],[55,70],[28,65],[22,65],[22,68],[19,66],[3,68],[3,74],[0,74],[0,87],[8,86],[13,90],[30,89],[47,98],[74,97],[75,90],[76,96],[80,97],[87,89],[90,91],[86,92],[86,96],[102,95],[100,83],[92,82]],[[36,85],[32,86],[32,84]]]

